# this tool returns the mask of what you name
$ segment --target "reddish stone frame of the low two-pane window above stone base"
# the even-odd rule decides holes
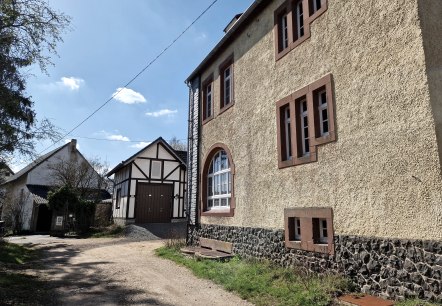
[[[299,218],[301,223],[301,240],[291,240],[291,233],[294,231],[293,218]],[[318,243],[315,238],[315,219],[327,220],[327,243]],[[286,248],[326,253],[334,255],[334,228],[333,209],[331,207],[307,207],[307,208],[286,208],[284,209],[284,232]]]

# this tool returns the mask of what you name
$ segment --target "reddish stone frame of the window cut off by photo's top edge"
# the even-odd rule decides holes
[[[304,35],[298,37],[297,35],[297,20],[296,20],[296,6],[302,2],[303,21],[304,21]],[[275,41],[275,61],[284,57],[291,50],[295,49],[301,43],[310,38],[310,24],[321,16],[328,8],[328,0],[321,0],[321,8],[313,11],[313,1],[315,0],[287,0],[279,6],[274,12],[274,41]],[[289,42],[287,48],[282,48],[282,19],[281,17],[287,15]]]

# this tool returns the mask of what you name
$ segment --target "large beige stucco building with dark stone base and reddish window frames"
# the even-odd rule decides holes
[[[442,2],[255,1],[187,79],[190,240],[442,300]]]

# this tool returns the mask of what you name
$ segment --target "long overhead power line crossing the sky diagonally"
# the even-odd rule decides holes
[[[46,150],[52,148],[55,144],[59,143],[61,140],[65,139],[67,136],[69,136],[73,131],[78,129],[81,125],[83,125],[86,121],[88,121],[92,116],[94,116],[98,111],[100,111],[104,106],[106,106],[110,101],[112,101],[118,94],[124,90],[127,86],[132,84],[133,81],[135,81],[141,74],[144,73],[153,63],[155,63],[167,50],[169,50],[201,17],[208,11],[210,8],[212,8],[215,3],[218,2],[218,0],[214,0],[196,19],[192,21],[190,25],[188,25],[167,47],[164,48],[163,51],[161,51],[154,59],[152,59],[146,66],[144,66],[143,69],[140,70],[133,78],[131,78],[124,87],[121,87],[117,92],[115,92],[109,99],[107,99],[100,107],[98,107],[96,110],[94,110],[89,116],[87,116],[85,119],[83,119],[79,124],[77,124],[74,128],[72,128],[69,132],[64,134],[62,137],[60,137],[58,140],[54,141],[49,147],[42,150],[38,155],[41,155]]]

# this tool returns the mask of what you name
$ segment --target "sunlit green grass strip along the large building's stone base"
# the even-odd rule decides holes
[[[236,292],[255,305],[327,306],[337,294],[351,288],[350,282],[339,275],[319,276],[266,262],[237,257],[228,262],[196,260],[182,255],[177,248],[167,247],[157,249],[156,254],[189,268],[197,277]]]

